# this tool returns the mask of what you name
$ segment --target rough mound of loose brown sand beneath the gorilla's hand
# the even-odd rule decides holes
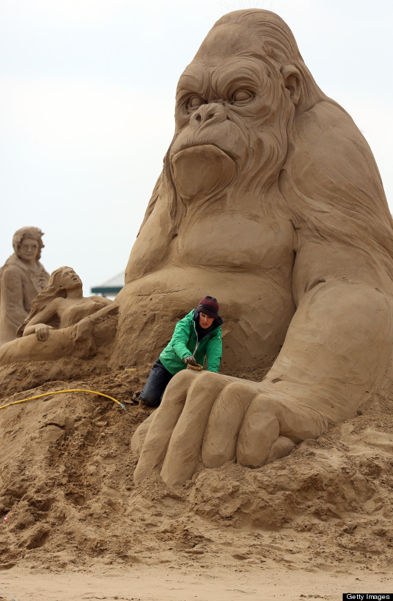
[[[145,377],[95,369],[74,378],[72,361],[62,365],[57,380],[48,379],[54,364],[3,369],[1,403],[70,388],[123,401]],[[376,396],[353,420],[270,465],[201,467],[173,490],[158,476],[134,486],[130,439],[149,409],[127,405],[125,414],[77,393],[1,409],[0,567],[197,561],[390,571],[392,399],[393,391]]]

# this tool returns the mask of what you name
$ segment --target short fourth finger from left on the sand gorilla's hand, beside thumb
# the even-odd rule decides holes
[[[262,394],[250,403],[239,432],[236,461],[248,467],[261,467],[280,434],[279,403]]]

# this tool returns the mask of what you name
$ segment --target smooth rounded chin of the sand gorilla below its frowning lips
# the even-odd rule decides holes
[[[174,185],[185,200],[207,200],[234,180],[232,156],[213,144],[188,146],[172,158]]]

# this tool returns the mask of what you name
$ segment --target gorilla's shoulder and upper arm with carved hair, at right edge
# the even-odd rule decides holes
[[[293,137],[280,189],[299,225],[295,301],[325,274],[361,281],[371,281],[371,274],[376,283],[383,266],[392,269],[393,221],[370,147],[350,115],[330,100],[301,114]],[[312,258],[310,245],[312,253],[318,247],[323,252]]]

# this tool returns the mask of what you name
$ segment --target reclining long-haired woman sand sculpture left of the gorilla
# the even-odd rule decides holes
[[[0,349],[0,365],[29,360],[52,360],[67,354],[90,356],[97,352],[94,323],[117,312],[103,296],[84,297],[81,278],[72,267],[59,267],[32,302],[17,331],[17,339]],[[110,337],[110,332],[108,332]],[[99,343],[105,343],[100,332]]]

